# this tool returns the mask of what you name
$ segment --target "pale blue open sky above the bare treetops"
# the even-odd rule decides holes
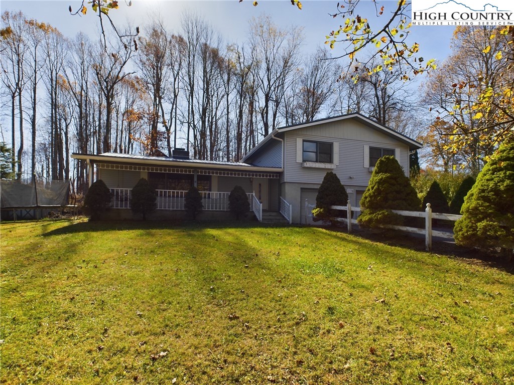
[[[127,2],[128,3],[128,0]],[[333,29],[337,29],[343,22],[341,18],[333,18],[329,13],[334,13],[337,1],[304,0],[303,9],[299,10],[291,6],[289,0],[260,0],[257,7],[253,7],[252,0],[228,1],[176,1],[176,0],[132,0],[132,7],[127,7],[125,0],[119,0],[120,8],[111,12],[117,23],[130,20],[133,25],[141,27],[144,34],[144,24],[149,20],[153,12],[162,16],[164,23],[172,31],[178,31],[180,15],[185,9],[194,9],[203,16],[216,30],[228,41],[242,43],[247,40],[248,21],[253,16],[266,13],[273,21],[283,27],[302,26],[304,28],[306,53],[313,52],[318,45],[323,45],[325,35]],[[387,17],[388,9],[396,6],[396,0],[379,1],[379,6],[384,5],[386,12],[381,16]],[[80,0],[48,1],[48,0],[16,0],[2,1],[0,7],[5,10],[21,10],[27,16],[38,21],[50,23],[57,27],[68,37],[75,36],[79,31],[84,31],[95,36],[98,30],[96,17],[92,13],[85,16],[71,16],[68,6],[74,10],[80,7]],[[370,0],[361,0],[359,12],[369,18],[372,23],[375,20],[375,8]],[[378,24],[377,24],[378,25]],[[450,26],[414,26],[411,28],[411,42],[417,42],[421,46],[425,59],[444,60],[450,52],[450,38],[454,27]],[[333,51],[337,56],[342,53],[342,47]]]

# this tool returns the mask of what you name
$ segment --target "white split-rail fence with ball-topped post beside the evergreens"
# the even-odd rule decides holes
[[[352,219],[352,211],[361,211],[360,207],[352,207],[350,201],[346,206],[331,206],[334,210],[346,210],[346,218],[333,218],[333,220],[338,222],[346,222],[348,226],[348,233],[352,232],[352,224],[357,224],[357,220]],[[407,233],[414,234],[424,234],[425,235],[425,247],[427,251],[432,251],[432,237],[440,237],[444,239],[453,240],[453,233],[448,232],[440,232],[432,229],[432,219],[444,219],[447,221],[456,221],[462,218],[462,215],[454,215],[454,214],[441,214],[441,213],[432,213],[432,208],[430,207],[430,203],[427,203],[427,208],[425,211],[406,211],[406,210],[391,210],[393,213],[401,215],[403,217],[416,217],[416,218],[425,218],[425,228],[417,228],[417,227],[407,227],[407,226],[396,226],[396,225],[388,225],[384,226],[386,228],[393,228],[396,230],[401,230]]]

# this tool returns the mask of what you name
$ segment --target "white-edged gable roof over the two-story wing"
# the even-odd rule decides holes
[[[423,147],[423,145],[421,143],[415,141],[414,139],[411,139],[411,138],[403,135],[402,133],[399,133],[389,127],[386,127],[380,123],[377,123],[377,122],[371,120],[370,118],[365,117],[361,113],[355,112],[355,113],[348,113],[345,115],[339,115],[337,117],[318,119],[318,120],[314,120],[314,121],[308,122],[308,123],[293,124],[291,126],[276,128],[271,133],[269,133],[268,136],[265,137],[261,142],[259,142],[258,145],[253,147],[252,150],[250,152],[248,152],[241,161],[245,162],[248,158],[253,156],[255,154],[255,152],[258,152],[260,148],[264,147],[265,144],[267,142],[269,142],[272,139],[272,137],[278,133],[292,131],[292,130],[298,130],[298,129],[306,128],[306,127],[313,127],[313,126],[317,126],[319,124],[324,124],[324,123],[343,121],[343,120],[347,120],[347,119],[355,119],[356,121],[358,121],[370,128],[373,128],[379,132],[382,132],[382,133],[386,134],[387,136],[398,140],[401,143],[407,144],[409,146],[409,149],[411,149],[411,150],[417,150],[417,149]]]

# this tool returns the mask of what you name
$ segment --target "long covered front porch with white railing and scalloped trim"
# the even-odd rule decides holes
[[[280,197],[279,168],[113,153],[72,157],[89,164],[89,185],[99,179],[105,182],[112,192],[114,209],[130,209],[132,188],[141,178],[155,189],[161,214],[184,210],[185,194],[191,186],[200,191],[204,211],[228,211],[228,196],[238,185],[245,190],[250,210],[260,222],[271,211],[283,213],[291,223],[291,209]]]

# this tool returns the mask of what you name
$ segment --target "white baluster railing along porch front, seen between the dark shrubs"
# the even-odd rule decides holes
[[[130,188],[111,188],[113,199],[111,207],[113,208],[130,208],[130,199],[132,189]],[[181,190],[155,190],[157,196],[158,210],[183,210],[184,198],[187,191]],[[201,203],[206,211],[228,211],[228,196],[230,192],[211,192],[200,191]],[[246,194],[248,202],[252,202],[254,195]],[[262,210],[261,210],[262,213]],[[257,215],[257,214],[255,214]],[[261,214],[262,218],[262,214]]]

